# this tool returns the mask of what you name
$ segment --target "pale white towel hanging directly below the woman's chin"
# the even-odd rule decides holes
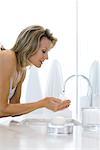
[[[42,91],[38,70],[36,67],[30,67],[26,83],[26,102],[33,102],[42,98]]]

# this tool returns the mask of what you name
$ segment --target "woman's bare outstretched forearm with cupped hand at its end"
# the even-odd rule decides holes
[[[61,101],[54,97],[47,97],[38,102],[26,104],[8,104],[0,113],[0,117],[19,116],[27,114],[33,110],[45,107],[52,111],[62,110],[69,107],[70,100]]]

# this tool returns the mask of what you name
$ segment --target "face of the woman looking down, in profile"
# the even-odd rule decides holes
[[[52,42],[48,38],[43,37],[40,41],[38,51],[29,58],[30,63],[40,68],[44,60],[48,59],[48,51],[51,48],[51,44]]]

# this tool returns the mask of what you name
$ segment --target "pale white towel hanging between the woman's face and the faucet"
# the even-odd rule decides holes
[[[47,79],[45,96],[59,97],[63,88],[63,75],[61,64],[53,60]]]

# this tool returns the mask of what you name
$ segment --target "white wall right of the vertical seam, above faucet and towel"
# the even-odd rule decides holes
[[[100,61],[100,0],[79,0],[79,72]]]

